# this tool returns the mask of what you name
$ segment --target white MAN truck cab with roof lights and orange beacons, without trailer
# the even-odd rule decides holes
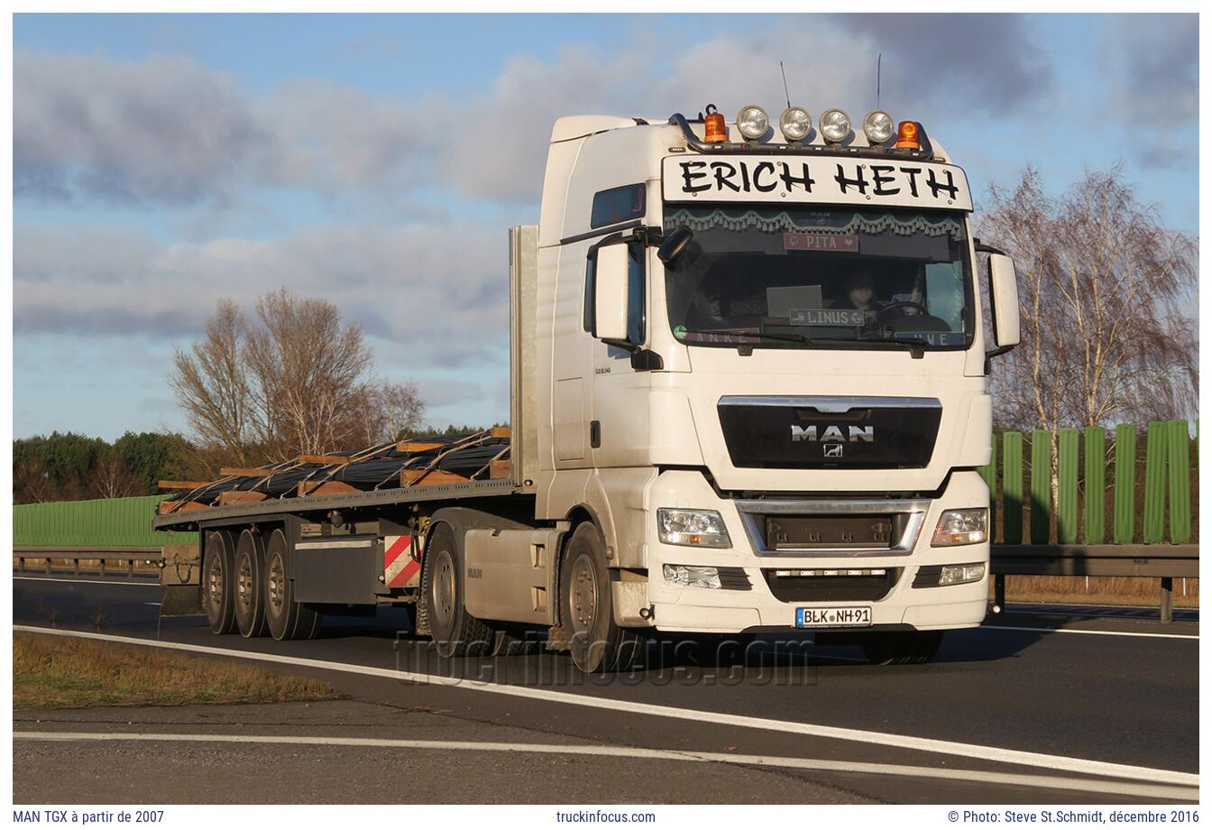
[[[591,526],[605,567],[578,578],[610,584],[579,611],[567,588],[568,636],[606,641],[573,656],[801,629],[928,659],[987,612],[1013,265],[993,252],[982,290],[967,177],[922,124],[713,109],[551,131],[536,519]]]

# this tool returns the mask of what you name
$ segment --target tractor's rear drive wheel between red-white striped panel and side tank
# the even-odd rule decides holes
[[[487,654],[496,640],[492,629],[468,613],[463,602],[462,559],[454,545],[454,531],[450,525],[438,525],[425,545],[421,599],[425,603],[429,636],[441,657]]]

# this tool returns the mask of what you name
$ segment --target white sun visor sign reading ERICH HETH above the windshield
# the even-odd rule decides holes
[[[668,156],[665,201],[778,202],[971,211],[961,167],[899,159]]]

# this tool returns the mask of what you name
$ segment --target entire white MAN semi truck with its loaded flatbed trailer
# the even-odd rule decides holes
[[[161,506],[200,534],[213,631],[415,602],[442,656],[539,630],[601,671],[653,632],[924,662],[982,622],[1013,264],[920,122],[714,109],[556,121],[539,224],[509,231],[510,430],[225,470]]]

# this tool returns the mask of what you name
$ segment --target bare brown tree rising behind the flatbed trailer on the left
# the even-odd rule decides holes
[[[361,328],[336,305],[281,288],[252,321],[222,300],[206,338],[177,351],[171,384],[199,447],[246,465],[359,448],[419,423],[417,388],[381,384],[372,370]]]

